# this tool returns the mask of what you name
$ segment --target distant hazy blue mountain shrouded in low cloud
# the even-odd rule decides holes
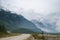
[[[50,13],[43,20],[33,22],[45,33],[60,33],[60,13]]]

